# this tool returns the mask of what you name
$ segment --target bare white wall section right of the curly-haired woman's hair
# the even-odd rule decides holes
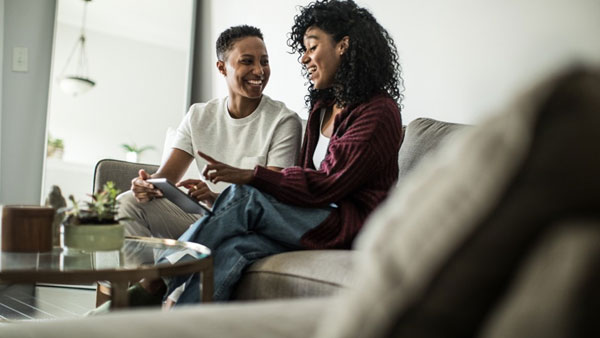
[[[365,1],[398,45],[405,122],[477,122],[557,68],[600,64],[598,0]]]

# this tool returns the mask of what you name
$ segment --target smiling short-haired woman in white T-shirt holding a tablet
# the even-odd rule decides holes
[[[209,206],[229,186],[200,179],[180,181],[192,161],[199,171],[207,164],[198,151],[248,169],[260,165],[281,170],[295,164],[302,125],[284,103],[263,94],[271,69],[262,32],[247,25],[230,27],[219,35],[216,54],[229,95],[192,105],[166,161],[155,174],[140,170],[131,191],[119,197],[119,217],[125,219],[128,235],[177,238],[200,217],[166,198],[156,198],[162,193],[147,182],[149,178],[167,178]]]

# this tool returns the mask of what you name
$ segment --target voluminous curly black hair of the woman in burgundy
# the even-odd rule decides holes
[[[298,61],[306,51],[304,34],[310,27],[330,34],[336,43],[345,36],[350,41],[332,88],[317,90],[309,81],[307,106],[312,107],[321,99],[335,100],[339,106],[353,106],[380,93],[387,93],[401,106],[403,81],[398,51],[390,34],[371,12],[352,0],[318,0],[300,7],[287,41],[292,53],[300,54]],[[302,75],[310,77],[306,67]]]

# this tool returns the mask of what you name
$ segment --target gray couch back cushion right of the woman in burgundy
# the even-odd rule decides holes
[[[418,118],[408,124],[398,153],[398,183],[404,182],[408,173],[425,157],[434,156],[435,149],[446,137],[464,130],[464,124]],[[468,128],[467,128],[468,129]]]

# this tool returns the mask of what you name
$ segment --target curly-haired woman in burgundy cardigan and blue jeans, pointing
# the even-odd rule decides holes
[[[259,258],[349,248],[398,177],[401,79],[387,31],[353,1],[324,0],[301,8],[288,44],[310,82],[301,166],[245,170],[199,153],[209,163],[208,180],[233,183],[213,214],[180,237],[212,250],[216,301],[229,299],[244,268]],[[186,285],[179,303],[198,301],[197,275],[166,282],[169,289]],[[144,285],[148,291],[160,284]]]

